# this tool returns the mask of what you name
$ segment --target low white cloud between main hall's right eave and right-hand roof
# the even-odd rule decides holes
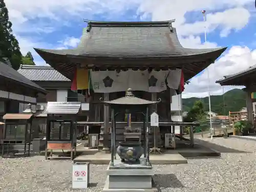
[[[202,75],[191,79],[186,86],[184,98],[208,95],[208,83],[211,95],[222,94],[222,87],[215,83],[216,80],[223,78],[224,75],[231,75],[256,64],[256,50],[250,50],[248,47],[234,46],[226,54],[221,57],[214,64],[210,65]],[[207,71],[209,71],[209,81],[207,78]],[[225,91],[242,88],[242,87],[228,87],[225,86]]]

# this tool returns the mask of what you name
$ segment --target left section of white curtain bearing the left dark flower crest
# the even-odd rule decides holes
[[[128,73],[121,71],[91,71],[91,81],[95,93],[112,93],[128,89]]]

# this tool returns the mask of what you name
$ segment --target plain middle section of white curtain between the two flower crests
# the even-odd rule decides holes
[[[128,70],[126,72],[129,74],[128,88],[131,88],[133,91],[146,91],[148,92],[148,71],[133,71]]]

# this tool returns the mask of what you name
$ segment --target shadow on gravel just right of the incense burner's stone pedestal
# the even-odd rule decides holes
[[[154,183],[158,189],[161,191],[165,188],[183,188],[184,185],[178,180],[174,174],[155,174],[153,176]]]

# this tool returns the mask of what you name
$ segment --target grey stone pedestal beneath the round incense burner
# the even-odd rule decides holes
[[[114,166],[109,165],[108,175],[103,191],[157,191],[153,186],[154,170],[152,165],[135,162],[127,164],[120,159],[114,160]]]

